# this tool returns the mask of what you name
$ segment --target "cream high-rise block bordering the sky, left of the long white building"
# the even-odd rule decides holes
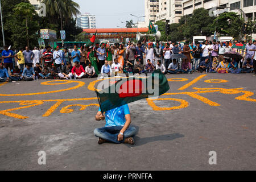
[[[182,11],[182,0],[159,0],[159,13],[156,14],[156,21],[179,23]]]

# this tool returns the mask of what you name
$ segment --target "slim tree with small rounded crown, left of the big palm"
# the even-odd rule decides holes
[[[30,46],[30,40],[28,38],[28,19],[32,18],[36,14],[34,6],[32,6],[30,3],[21,2],[18,5],[14,6],[14,13],[18,15],[25,15],[26,19],[26,37],[27,37],[27,46]]]

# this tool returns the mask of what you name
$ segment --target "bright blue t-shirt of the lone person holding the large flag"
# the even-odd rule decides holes
[[[101,111],[99,109],[98,111]],[[109,126],[125,126],[125,115],[130,114],[130,110],[128,105],[122,105],[112,110],[108,110],[105,112],[106,115],[106,125],[105,127]]]

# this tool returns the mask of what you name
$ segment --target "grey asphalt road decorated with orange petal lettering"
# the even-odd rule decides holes
[[[183,109],[174,100],[154,101],[155,107],[176,106],[174,110],[153,110],[146,100],[129,104],[132,123],[138,129],[134,146],[97,144],[93,130],[105,125],[95,121],[97,106],[63,109],[69,105],[97,104],[97,100],[90,99],[96,94],[88,90],[89,83],[96,78],[76,80],[85,84],[48,94],[5,95],[51,92],[78,83],[42,85],[46,80],[39,80],[2,85],[0,170],[256,170],[256,96],[251,96],[256,93],[256,77],[208,73],[178,90],[201,75],[167,75],[188,79],[170,81],[169,93],[177,94],[160,97],[183,100],[183,104],[187,103]],[[205,82],[209,79],[228,82]],[[196,88],[213,92],[195,96]],[[244,94],[245,97],[239,97]],[[31,106],[34,104],[38,105]],[[3,111],[17,107],[21,109]],[[71,111],[67,109],[73,112],[65,113]],[[39,151],[46,152],[46,165],[38,164]],[[209,164],[210,151],[216,152],[217,164]]]

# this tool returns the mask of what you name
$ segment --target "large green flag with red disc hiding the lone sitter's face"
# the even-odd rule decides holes
[[[97,92],[102,113],[143,98],[157,97],[170,89],[167,78],[159,70],[145,78],[122,78]]]

